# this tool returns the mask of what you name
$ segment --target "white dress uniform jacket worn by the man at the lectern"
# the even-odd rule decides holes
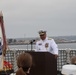
[[[46,37],[45,40],[40,40],[36,42],[36,51],[50,52],[52,54],[58,55],[58,46],[54,39]]]

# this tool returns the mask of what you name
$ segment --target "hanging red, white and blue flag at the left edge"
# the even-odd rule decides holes
[[[5,53],[6,53],[6,36],[3,22],[3,14],[2,12],[0,12],[0,70],[3,70]]]

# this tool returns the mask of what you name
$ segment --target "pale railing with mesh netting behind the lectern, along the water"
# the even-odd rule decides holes
[[[27,50],[8,50],[6,52],[5,60],[13,65],[14,71],[17,70],[16,57]],[[30,50],[28,50],[30,51]],[[31,50],[34,51],[34,50]],[[70,58],[76,56],[76,49],[59,49],[59,57],[57,58],[57,70],[61,71],[62,66],[70,63]]]

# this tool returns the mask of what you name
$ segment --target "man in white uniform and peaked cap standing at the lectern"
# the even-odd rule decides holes
[[[54,39],[48,38],[46,31],[39,31],[41,40],[36,42],[36,51],[47,51],[55,55],[55,58],[58,57],[58,46],[55,43]]]

